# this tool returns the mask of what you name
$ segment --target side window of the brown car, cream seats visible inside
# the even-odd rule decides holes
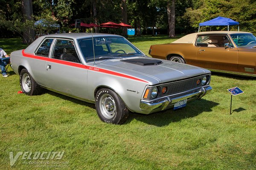
[[[230,43],[227,35],[199,35],[196,40],[201,47],[225,47],[226,43]]]

